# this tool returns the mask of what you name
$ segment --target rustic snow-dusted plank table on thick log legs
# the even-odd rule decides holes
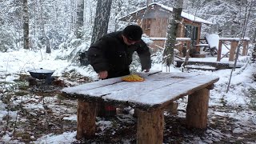
[[[146,80],[122,82],[121,78],[110,78],[62,90],[66,98],[78,99],[78,139],[94,137],[96,105],[102,101],[138,109],[137,143],[162,143],[163,111],[186,95],[187,126],[206,128],[210,89],[218,77],[163,72],[139,75]]]

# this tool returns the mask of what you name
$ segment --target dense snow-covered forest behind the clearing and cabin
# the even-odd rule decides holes
[[[90,46],[97,0],[83,2],[84,18],[80,28],[82,38],[77,39],[75,32],[78,30],[76,28],[78,1],[28,1],[30,50],[42,50],[47,45],[51,49],[74,48],[81,45],[82,42],[87,42],[86,46]],[[127,23],[119,21],[118,18],[146,6],[147,2],[146,0],[113,0],[108,32],[121,30]],[[170,7],[174,4],[173,1],[165,0],[151,2],[158,2]],[[186,0],[183,2],[183,11],[214,23],[211,26],[202,26],[202,37],[205,34],[240,37],[242,27],[246,22],[245,36],[254,43],[256,37],[255,3],[249,0]],[[0,50],[2,52],[18,50],[23,47],[22,5],[23,2],[20,0],[0,0]],[[250,11],[248,11],[249,6],[251,6]],[[87,48],[80,47],[80,50],[76,50],[76,52]]]

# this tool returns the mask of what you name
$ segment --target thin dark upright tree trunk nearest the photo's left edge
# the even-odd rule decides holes
[[[27,0],[23,0],[23,37],[24,37],[24,49],[30,49],[29,38],[29,6]]]

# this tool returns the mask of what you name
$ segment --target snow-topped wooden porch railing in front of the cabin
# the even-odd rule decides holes
[[[150,45],[150,48],[153,51],[163,50],[166,38],[150,38],[153,41],[153,44]],[[206,58],[207,50],[214,48],[206,42],[206,39],[200,39],[199,43],[192,46],[190,38],[176,38],[177,44],[176,49],[179,51],[178,56],[185,58],[189,56],[190,58]],[[239,46],[239,55],[246,56],[248,54],[250,38],[218,38],[218,47],[216,49],[216,62],[220,62],[223,58],[229,58],[229,62],[234,62],[236,48]],[[225,50],[223,50],[225,48]],[[186,53],[190,51],[189,53]],[[200,55],[200,56],[199,56]],[[213,55],[215,57],[215,55]]]

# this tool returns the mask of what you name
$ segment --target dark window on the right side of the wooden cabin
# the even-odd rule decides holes
[[[199,27],[192,26],[192,25],[186,25],[185,27],[186,27],[185,38],[191,38],[192,44],[193,45],[197,44]]]

